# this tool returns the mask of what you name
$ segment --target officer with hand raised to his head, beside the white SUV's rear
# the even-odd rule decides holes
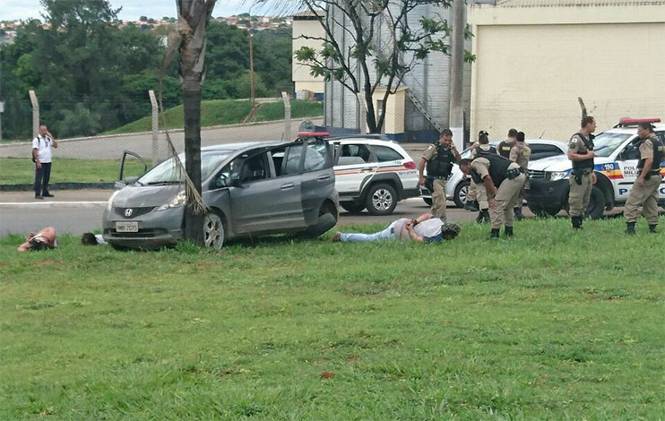
[[[430,145],[420,159],[419,184],[427,186],[432,192],[432,214],[438,218],[445,219],[445,181],[453,170],[453,163],[459,162],[460,159],[450,129],[444,129],[439,142]],[[426,165],[427,180],[423,176]]]

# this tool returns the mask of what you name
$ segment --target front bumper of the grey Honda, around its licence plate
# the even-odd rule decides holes
[[[104,241],[110,245],[159,249],[175,245],[183,238],[184,208],[151,211],[137,218],[123,218],[114,210],[104,211],[102,229]],[[138,232],[117,232],[116,222],[138,222]]]

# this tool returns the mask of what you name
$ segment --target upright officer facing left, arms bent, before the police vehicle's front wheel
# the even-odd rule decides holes
[[[596,175],[593,173],[593,157],[596,155],[592,142],[596,120],[592,116],[583,116],[580,126],[580,131],[574,133],[568,142],[568,159],[573,162],[568,205],[574,229],[582,229],[582,219],[592,195],[592,185],[596,184]]]

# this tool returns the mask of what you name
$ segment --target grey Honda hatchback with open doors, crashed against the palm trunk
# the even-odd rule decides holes
[[[120,180],[127,155],[141,159],[125,151]],[[186,197],[175,159],[117,183],[122,189],[108,200],[103,216],[108,244],[157,249],[183,237]],[[184,161],[184,154],[178,159]],[[332,145],[314,138],[202,148],[205,245],[220,249],[243,236],[324,234],[339,213],[332,160]]]

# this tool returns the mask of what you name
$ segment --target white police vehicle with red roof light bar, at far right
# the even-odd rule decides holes
[[[603,211],[626,203],[628,193],[637,177],[639,150],[637,123],[648,121],[660,123],[659,118],[645,120],[622,118],[619,124],[607,132],[600,133],[593,140],[596,158],[593,168],[598,181],[592,187],[592,195],[586,213],[598,219]],[[665,125],[654,125],[654,132],[665,142]],[[658,165],[654,163],[654,166]],[[664,162],[660,163],[665,175]],[[556,215],[568,207],[570,185],[568,177],[572,165],[566,155],[541,159],[529,165],[530,187],[526,191],[529,209],[536,215]],[[659,189],[659,203],[665,203],[665,183]]]

